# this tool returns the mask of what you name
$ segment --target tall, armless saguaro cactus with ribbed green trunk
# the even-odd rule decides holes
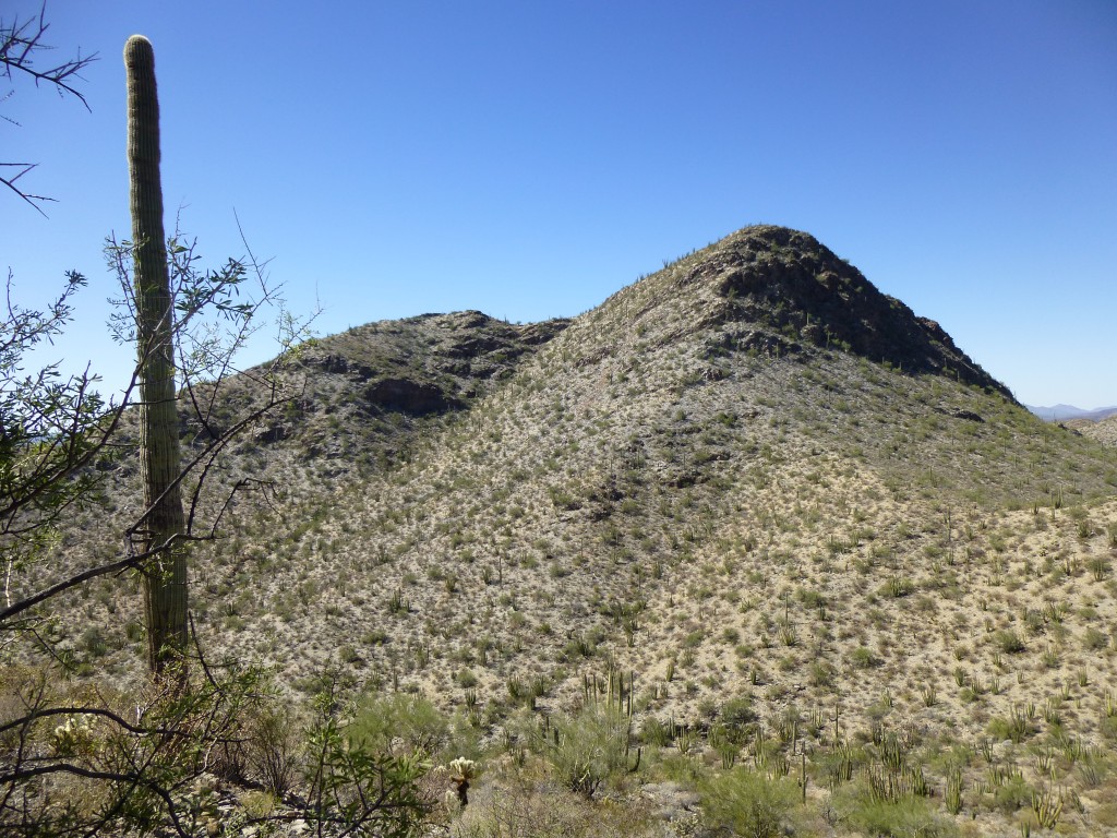
[[[159,163],[159,95],[151,41],[133,35],[124,46],[128,89],[128,178],[136,351],[140,370],[140,475],[149,510],[140,549],[157,550],[143,568],[147,663],[164,672],[187,647],[187,558],[175,536],[185,532],[179,489],[181,455],[174,391],[174,318],[163,231]],[[165,547],[165,549],[162,549]]]

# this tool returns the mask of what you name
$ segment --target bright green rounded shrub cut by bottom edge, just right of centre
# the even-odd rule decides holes
[[[751,838],[777,838],[799,799],[795,782],[787,778],[738,768],[701,784],[703,811],[708,826]]]

